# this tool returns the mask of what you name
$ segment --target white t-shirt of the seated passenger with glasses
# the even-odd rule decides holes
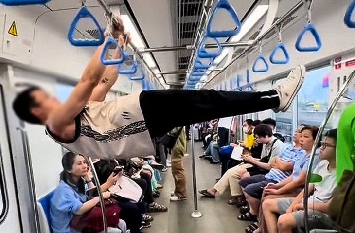
[[[308,203],[327,203],[337,188],[336,171],[329,171],[329,162],[321,160],[312,173],[320,175],[322,181],[314,185],[314,193],[308,198]]]

